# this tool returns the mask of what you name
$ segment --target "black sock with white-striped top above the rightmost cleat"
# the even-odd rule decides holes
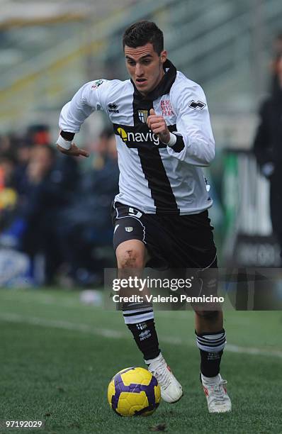
[[[201,373],[205,377],[215,377],[220,372],[220,360],[225,347],[225,330],[214,333],[196,333],[197,345],[201,353]]]

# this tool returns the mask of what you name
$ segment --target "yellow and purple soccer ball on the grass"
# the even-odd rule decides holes
[[[123,369],[108,385],[108,404],[119,416],[149,416],[160,400],[157,379],[141,367]]]

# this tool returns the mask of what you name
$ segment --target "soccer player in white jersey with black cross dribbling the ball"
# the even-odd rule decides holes
[[[130,79],[84,84],[62,109],[57,148],[87,157],[72,142],[74,134],[94,110],[105,111],[113,123],[120,168],[120,193],[113,204],[118,269],[197,268],[205,285],[206,270],[217,268],[207,211],[212,201],[201,169],[215,155],[205,94],[167,59],[155,23],[140,21],[126,29],[123,50]],[[220,376],[222,311],[196,309],[195,315],[208,411],[230,411]],[[159,350],[152,306],[131,306],[123,316],[162,398],[179,401],[182,387]]]

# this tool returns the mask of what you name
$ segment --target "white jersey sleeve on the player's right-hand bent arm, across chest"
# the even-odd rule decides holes
[[[176,111],[176,145],[168,148],[171,156],[189,165],[209,166],[215,157],[215,140],[203,89],[178,84],[171,98]]]

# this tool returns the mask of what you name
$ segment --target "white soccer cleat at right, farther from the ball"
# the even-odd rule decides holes
[[[227,381],[218,374],[216,377],[207,379],[201,374],[203,391],[208,402],[209,413],[226,413],[231,411],[231,400],[227,395],[225,384]]]

